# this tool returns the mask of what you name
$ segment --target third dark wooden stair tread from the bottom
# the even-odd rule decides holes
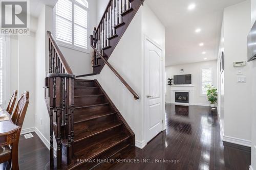
[[[74,124],[85,122],[87,120],[92,120],[92,119],[103,117],[103,116],[108,116],[111,114],[115,114],[115,112],[110,110],[110,111],[101,111],[98,113],[90,112],[85,114],[74,115]]]

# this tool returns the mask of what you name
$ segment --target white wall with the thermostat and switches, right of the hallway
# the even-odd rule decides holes
[[[233,67],[234,61],[247,61],[247,35],[251,28],[250,1],[224,9],[224,141],[250,146],[251,142],[251,62]],[[243,75],[237,75],[238,69]],[[237,77],[246,83],[237,83]],[[239,128],[238,128],[239,125]]]

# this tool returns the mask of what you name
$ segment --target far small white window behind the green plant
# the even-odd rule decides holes
[[[207,85],[212,85],[212,68],[201,69],[201,95],[207,94]]]

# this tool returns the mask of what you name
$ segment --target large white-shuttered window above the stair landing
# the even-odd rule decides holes
[[[60,45],[87,51],[88,2],[59,0],[55,6],[55,37]]]

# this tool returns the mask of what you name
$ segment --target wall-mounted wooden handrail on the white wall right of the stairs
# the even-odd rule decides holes
[[[140,99],[139,95],[132,89],[132,87],[122,78],[122,76],[117,72],[117,70],[108,62],[106,59],[97,51],[97,49],[93,46],[92,40],[93,40],[93,35],[90,36],[91,38],[91,47],[93,50],[98,54],[99,58],[104,61],[106,65],[110,67],[110,69],[114,72],[114,74],[118,77],[118,79],[123,83],[123,85],[133,94],[134,99],[138,100]]]

